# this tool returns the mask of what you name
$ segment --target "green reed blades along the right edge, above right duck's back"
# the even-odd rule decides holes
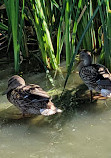
[[[99,13],[101,18],[101,23],[103,27],[103,36],[104,36],[104,59],[105,59],[105,65],[111,70],[111,10],[109,1],[104,1],[103,5],[101,6],[101,1],[98,0],[99,7]],[[104,11],[103,8],[106,9]],[[102,59],[102,60],[104,60]]]

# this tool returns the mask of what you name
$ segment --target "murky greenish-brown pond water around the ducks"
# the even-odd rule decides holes
[[[11,76],[10,73],[3,74],[1,72],[0,80],[1,158],[111,157],[110,99],[90,103],[88,91],[84,92],[83,88],[79,93],[82,81],[78,74],[70,76],[61,98],[58,96],[62,91],[63,79],[56,78],[56,89],[52,89],[44,73],[24,75],[27,83],[39,84],[48,91],[63,113],[21,119],[19,110],[8,102],[6,96],[2,96]],[[78,91],[76,95],[75,90]]]

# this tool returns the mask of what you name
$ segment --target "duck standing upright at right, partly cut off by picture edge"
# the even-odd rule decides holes
[[[101,64],[92,64],[91,52],[82,50],[79,53],[79,76],[90,90],[100,93],[103,97],[111,97],[111,73]]]

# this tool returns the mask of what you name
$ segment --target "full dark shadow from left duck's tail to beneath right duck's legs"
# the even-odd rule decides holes
[[[93,92],[93,96],[99,97],[99,94]],[[90,114],[99,114],[108,109],[105,105],[105,100],[102,98],[101,100],[93,99],[93,102],[90,102],[90,92],[84,84],[80,84],[71,90],[65,90],[61,96],[55,96],[53,102],[56,106],[64,109],[64,114],[66,113],[66,115],[75,115],[75,113],[84,111]]]

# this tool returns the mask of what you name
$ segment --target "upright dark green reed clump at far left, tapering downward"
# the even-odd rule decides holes
[[[18,73],[20,44],[22,40],[22,28],[24,21],[24,0],[23,0],[21,15],[19,13],[19,1],[4,0],[4,3],[8,15],[9,34],[12,33],[12,37],[13,37],[15,73]]]

